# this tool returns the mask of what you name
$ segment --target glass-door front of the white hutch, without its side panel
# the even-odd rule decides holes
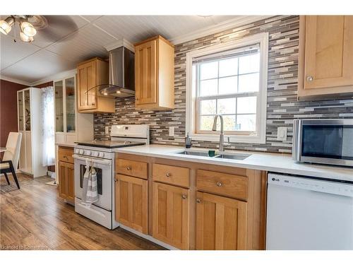
[[[76,141],[76,78],[54,81],[55,141]]]

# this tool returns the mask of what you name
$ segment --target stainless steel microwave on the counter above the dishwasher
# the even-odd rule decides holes
[[[293,159],[353,167],[353,119],[294,119]]]

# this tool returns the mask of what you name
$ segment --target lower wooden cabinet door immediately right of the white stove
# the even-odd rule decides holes
[[[116,175],[115,220],[147,234],[148,180]]]

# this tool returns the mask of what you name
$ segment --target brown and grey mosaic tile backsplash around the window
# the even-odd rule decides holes
[[[175,109],[136,110],[135,98],[116,98],[115,114],[95,114],[96,139],[109,139],[104,127],[113,124],[150,124],[150,143],[184,146],[186,117],[186,52],[227,43],[256,33],[269,33],[266,143],[232,143],[228,149],[292,152],[293,119],[353,118],[353,98],[298,101],[299,16],[274,16],[232,30],[175,46]],[[169,136],[174,126],[175,136]],[[277,141],[277,127],[287,126],[287,141]],[[217,142],[193,141],[193,146],[217,148]]]

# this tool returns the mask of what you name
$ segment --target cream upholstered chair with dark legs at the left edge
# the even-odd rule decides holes
[[[18,166],[18,159],[20,158],[21,139],[22,134],[20,133],[11,132],[8,134],[6,151],[4,153],[3,160],[0,161],[0,174],[4,173],[7,184],[10,184],[7,173],[11,173],[13,179],[15,179],[18,189],[20,189],[20,184],[18,184],[16,168]]]

